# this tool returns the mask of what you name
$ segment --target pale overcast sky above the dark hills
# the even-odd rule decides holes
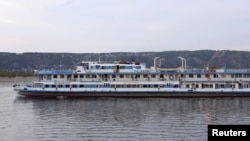
[[[0,0],[0,52],[250,51],[250,0]]]

